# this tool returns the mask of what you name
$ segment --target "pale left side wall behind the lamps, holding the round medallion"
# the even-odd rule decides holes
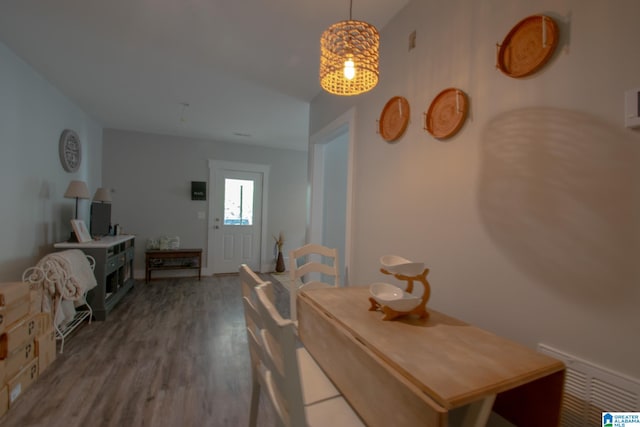
[[[67,173],[58,155],[64,129],[82,142],[80,170]],[[75,201],[71,180],[100,186],[102,128],[0,43],[0,281],[20,280],[25,268],[69,237]],[[88,221],[89,203],[79,217]]]

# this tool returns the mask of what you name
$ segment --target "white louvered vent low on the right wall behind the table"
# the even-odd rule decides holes
[[[562,360],[567,367],[562,427],[601,427],[603,411],[640,411],[640,381],[545,344],[539,344],[538,350]]]

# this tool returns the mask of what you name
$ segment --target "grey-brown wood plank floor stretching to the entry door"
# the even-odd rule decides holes
[[[137,281],[106,321],[68,338],[0,425],[246,426],[250,392],[237,275]],[[273,425],[260,405],[258,424]]]

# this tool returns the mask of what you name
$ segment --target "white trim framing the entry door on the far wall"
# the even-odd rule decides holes
[[[268,201],[269,201],[269,171],[271,170],[271,165],[263,165],[257,163],[243,163],[243,162],[229,162],[225,160],[209,160],[209,219],[207,224],[207,270],[209,274],[213,273],[213,251],[210,250],[213,247],[213,238],[214,238],[214,203],[215,203],[215,172],[216,169],[229,169],[240,172],[253,172],[253,173],[261,173],[262,174],[262,212],[260,215],[260,254],[259,254],[259,264],[260,264],[260,272],[267,271],[269,268],[268,264],[265,262],[265,254],[267,254],[267,212],[268,212]]]

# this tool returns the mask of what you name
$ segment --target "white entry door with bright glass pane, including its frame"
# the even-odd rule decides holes
[[[212,166],[208,265],[214,274],[235,273],[240,264],[260,271],[264,171],[229,162]]]

